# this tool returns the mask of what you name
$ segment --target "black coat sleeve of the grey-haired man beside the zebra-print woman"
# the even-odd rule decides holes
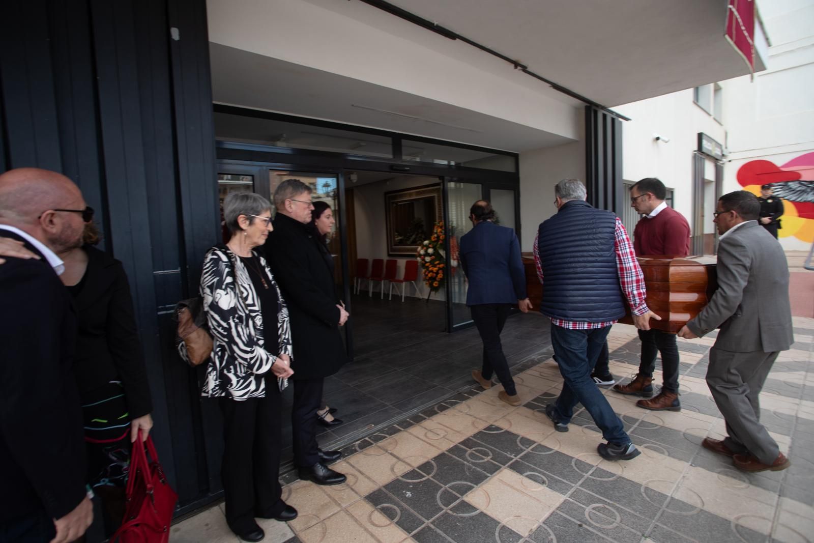
[[[265,257],[290,305],[297,305],[326,326],[339,326],[340,313],[336,301],[317,288],[317,280],[309,269],[306,250],[290,236],[278,235],[274,237],[274,243],[266,244]],[[322,261],[317,264],[324,266]]]

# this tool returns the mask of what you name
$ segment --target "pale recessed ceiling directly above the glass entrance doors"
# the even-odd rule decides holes
[[[519,152],[573,141],[464,107],[247,50],[210,42],[209,55],[212,98],[216,103],[335,120],[503,151]],[[421,115],[400,113],[405,111],[421,112]]]

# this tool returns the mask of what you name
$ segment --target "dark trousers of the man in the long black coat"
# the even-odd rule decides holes
[[[317,443],[317,409],[322,407],[322,385],[325,379],[294,379],[294,401],[291,404],[291,437],[294,463],[310,467],[319,462]]]

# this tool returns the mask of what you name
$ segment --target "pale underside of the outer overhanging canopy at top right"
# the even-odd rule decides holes
[[[607,107],[749,73],[724,38],[724,0],[389,1]],[[382,13],[357,0],[309,2],[357,19]]]

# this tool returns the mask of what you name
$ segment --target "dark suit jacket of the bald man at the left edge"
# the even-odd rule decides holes
[[[81,405],[70,370],[76,322],[67,296],[44,261],[10,258],[0,266],[0,436],[11,457],[0,473],[22,472],[55,519],[85,497]]]

